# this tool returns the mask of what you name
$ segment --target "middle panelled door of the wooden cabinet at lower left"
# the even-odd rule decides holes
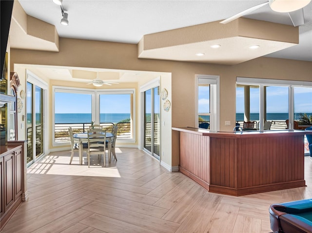
[[[14,203],[14,152],[4,156],[4,212]]]

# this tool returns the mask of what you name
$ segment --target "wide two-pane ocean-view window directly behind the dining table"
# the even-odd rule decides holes
[[[118,140],[134,141],[135,90],[89,90],[53,87],[53,145],[69,143],[68,127],[85,132],[91,121],[108,131],[118,125]]]

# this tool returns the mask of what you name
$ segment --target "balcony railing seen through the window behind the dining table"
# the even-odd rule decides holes
[[[87,132],[90,123],[68,123],[68,124],[55,124],[54,126],[54,139],[55,142],[66,142],[69,141],[68,127],[72,127],[73,133],[81,133]],[[112,127],[115,125],[114,123],[100,123],[103,126],[103,129],[107,132],[112,131]],[[131,133],[131,123],[117,123],[118,131],[117,138],[118,139],[130,139],[132,137]]]

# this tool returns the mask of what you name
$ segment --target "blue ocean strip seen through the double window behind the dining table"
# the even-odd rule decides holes
[[[118,123],[130,119],[130,113],[100,113],[100,123]],[[91,123],[91,113],[56,113],[55,124]]]

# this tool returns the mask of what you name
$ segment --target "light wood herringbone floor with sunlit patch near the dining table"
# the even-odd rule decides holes
[[[3,233],[269,233],[269,206],[312,197],[307,187],[232,197],[209,193],[179,172],[133,148],[88,168],[70,152],[53,152],[27,171],[29,199]]]

